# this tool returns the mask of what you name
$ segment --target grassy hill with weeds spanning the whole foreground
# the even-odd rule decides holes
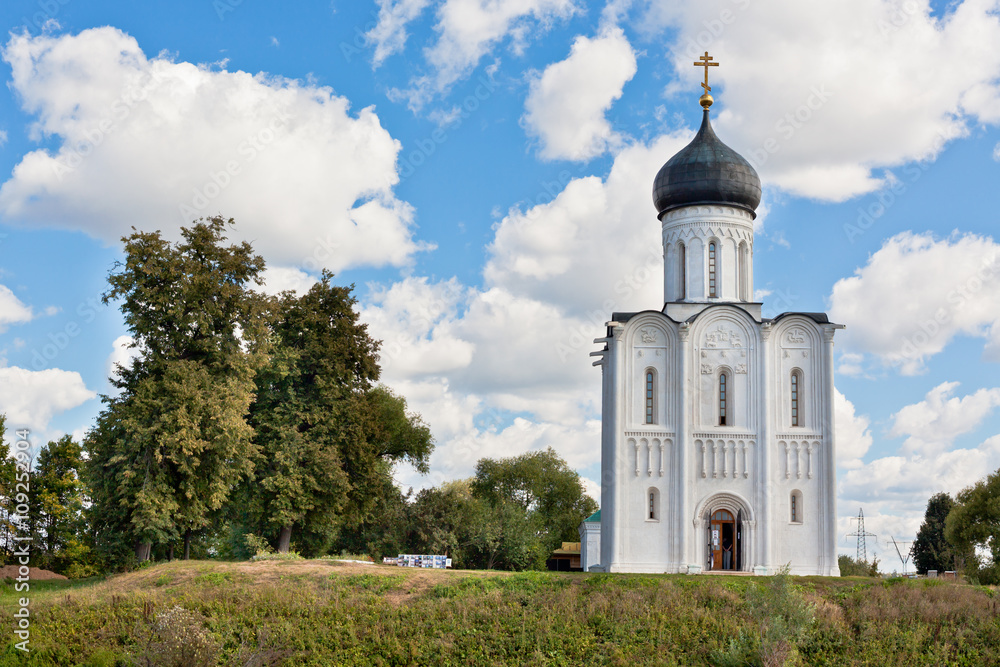
[[[936,581],[167,563],[33,582],[0,665],[990,665],[997,591]]]

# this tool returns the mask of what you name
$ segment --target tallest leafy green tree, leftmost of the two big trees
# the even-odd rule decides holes
[[[263,361],[266,318],[250,289],[264,261],[248,243],[224,245],[233,221],[197,221],[170,243],[159,232],[123,239],[105,303],[120,301],[136,357],[119,367],[104,413],[85,445],[95,505],[114,499],[98,528],[127,528],[135,556],[154,543],[184,539],[208,526],[230,490],[253,470],[245,416]],[[102,495],[103,494],[103,495]]]

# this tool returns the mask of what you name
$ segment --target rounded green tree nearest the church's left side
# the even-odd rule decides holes
[[[580,476],[552,449],[476,464],[472,493],[490,508],[479,524],[488,567],[541,568],[597,510]]]

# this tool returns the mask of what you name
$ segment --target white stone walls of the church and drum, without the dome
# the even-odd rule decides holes
[[[709,239],[721,248],[719,300],[704,297]],[[798,314],[762,321],[759,310],[724,303],[753,289],[752,278],[739,274],[752,275],[752,220],[725,207],[665,216],[668,301],[679,289],[681,274],[671,258],[682,240],[687,298],[710,303],[685,322],[658,311],[639,313],[595,341],[605,346],[594,353],[604,401],[600,565],[612,572],[707,567],[709,516],[727,509],[743,521],[742,569],[773,573],[788,565],[795,574],[839,574],[832,378],[837,325]],[[741,244],[747,248],[742,265]],[[648,370],[656,377],[652,424],[645,420]],[[791,421],[793,371],[802,380],[800,426]],[[721,372],[729,380],[725,425],[718,419]],[[801,521],[791,520],[793,493],[801,499]]]

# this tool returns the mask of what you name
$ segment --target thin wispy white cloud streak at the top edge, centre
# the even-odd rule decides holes
[[[415,77],[408,90],[395,94],[405,97],[412,109],[420,109],[468,76],[504,38],[509,36],[511,48],[518,52],[533,30],[543,31],[576,11],[573,0],[444,0],[434,26],[438,39],[424,51],[431,73]]]

